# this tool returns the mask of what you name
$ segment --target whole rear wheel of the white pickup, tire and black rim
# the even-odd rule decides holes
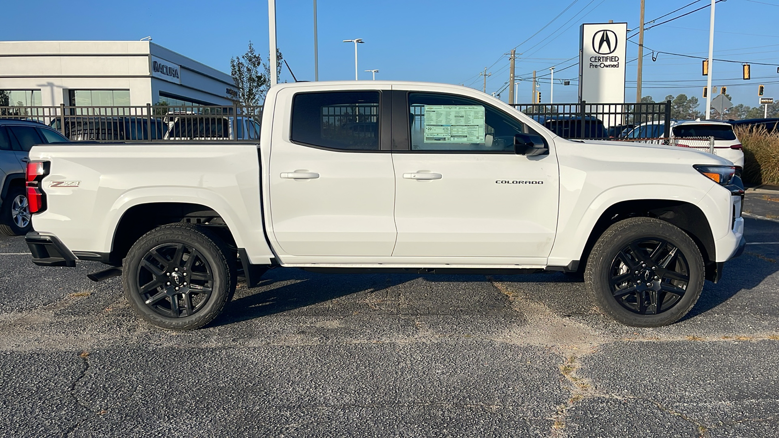
[[[157,327],[203,327],[235,290],[235,256],[206,228],[168,224],[132,245],[122,282],[132,309]]]

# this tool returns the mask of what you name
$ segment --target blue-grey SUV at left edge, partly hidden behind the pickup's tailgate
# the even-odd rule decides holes
[[[66,141],[43,123],[0,118],[0,232],[26,235],[32,230],[25,189],[27,153],[34,144]]]

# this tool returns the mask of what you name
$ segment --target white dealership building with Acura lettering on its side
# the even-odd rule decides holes
[[[230,75],[151,41],[0,41],[0,106],[232,104]]]

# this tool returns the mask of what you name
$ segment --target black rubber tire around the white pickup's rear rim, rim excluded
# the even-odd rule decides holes
[[[213,275],[210,296],[202,309],[188,316],[169,317],[155,312],[144,302],[142,286],[138,281],[139,269],[144,257],[148,256],[152,249],[171,243],[184,244],[196,249],[210,265]],[[154,228],[132,245],[123,264],[122,284],[130,306],[143,320],[164,329],[190,330],[203,327],[220,315],[235,291],[237,269],[234,253],[216,233],[193,224],[167,224]]]

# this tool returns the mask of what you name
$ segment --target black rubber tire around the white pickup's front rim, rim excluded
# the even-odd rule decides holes
[[[615,298],[611,284],[613,263],[622,249],[631,242],[644,238],[663,239],[670,245],[675,245],[688,265],[686,270],[689,281],[684,295],[678,298],[671,308],[651,315],[634,313],[622,306],[618,298]],[[590,297],[606,315],[629,326],[660,327],[675,323],[695,306],[703,290],[704,269],[700,249],[685,231],[659,219],[631,217],[613,224],[597,239],[587,259],[584,281]]]

